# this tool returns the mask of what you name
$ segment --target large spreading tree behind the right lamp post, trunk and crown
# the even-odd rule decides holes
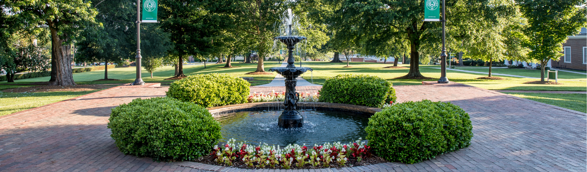
[[[423,21],[425,1],[396,1],[376,0],[359,1],[345,0],[335,14],[339,14],[336,26],[352,25],[357,28],[357,33],[362,35],[382,35],[393,37],[400,35],[410,42],[410,70],[402,78],[417,79],[424,78],[420,73],[419,58],[421,46],[429,43],[438,45],[440,42],[441,22]],[[467,12],[491,18],[495,13],[492,11],[507,11],[502,8],[500,2],[488,0],[455,0],[448,1],[447,21],[464,23],[469,18],[466,15],[451,15],[451,11]],[[479,15],[477,15],[479,14]],[[462,18],[456,18],[462,17]],[[458,29],[458,28],[457,28]],[[435,56],[440,54],[440,47],[434,47]]]

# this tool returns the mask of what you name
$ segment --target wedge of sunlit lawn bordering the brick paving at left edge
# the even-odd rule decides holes
[[[97,91],[99,90],[85,92],[0,93],[0,116]]]

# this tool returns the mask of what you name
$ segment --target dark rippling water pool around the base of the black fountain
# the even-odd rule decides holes
[[[277,117],[283,102],[232,104],[208,109],[221,123],[222,140],[235,139],[247,144],[267,143],[323,144],[348,143],[365,138],[369,117],[381,109],[352,104],[298,102],[299,112],[305,117],[301,128],[282,129]]]

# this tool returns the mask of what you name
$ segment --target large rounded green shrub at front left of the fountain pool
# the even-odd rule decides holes
[[[207,155],[222,137],[220,123],[202,106],[171,97],[134,99],[112,109],[110,137],[124,154],[156,161]]]

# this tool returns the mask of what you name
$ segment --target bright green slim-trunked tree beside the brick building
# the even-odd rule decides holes
[[[587,9],[584,0],[517,0],[528,25],[522,31],[528,37],[525,43],[531,52],[528,58],[539,60],[541,81],[548,60],[562,56],[562,43],[567,36],[586,26]]]

